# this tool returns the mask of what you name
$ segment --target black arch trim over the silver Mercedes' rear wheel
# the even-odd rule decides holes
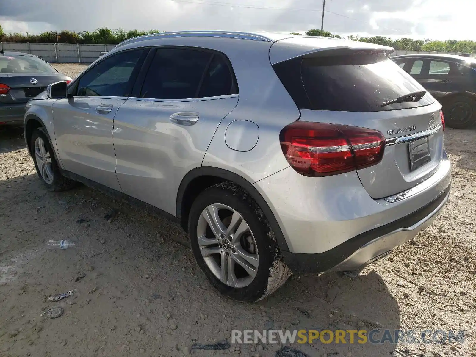
[[[177,218],[182,221],[182,203],[183,198],[185,195],[185,191],[195,178],[200,176],[214,176],[218,178],[223,178],[227,181],[234,182],[238,186],[244,188],[250,196],[255,200],[258,204],[259,208],[265,214],[271,229],[276,237],[276,241],[278,242],[279,249],[281,251],[289,251],[288,243],[286,242],[286,238],[284,238],[283,232],[279,227],[278,221],[276,220],[271,208],[269,208],[268,203],[266,200],[261,196],[258,190],[245,178],[239,176],[238,174],[225,170],[219,169],[211,166],[200,166],[198,168],[190,170],[187,175],[182,179],[180,186],[177,192],[177,206],[176,206],[176,215]],[[183,226],[183,225],[182,225]]]

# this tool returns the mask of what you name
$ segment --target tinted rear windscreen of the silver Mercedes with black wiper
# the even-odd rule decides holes
[[[426,94],[418,102],[384,102],[422,90],[415,79],[383,54],[303,56],[273,66],[299,109],[382,111],[433,103]]]

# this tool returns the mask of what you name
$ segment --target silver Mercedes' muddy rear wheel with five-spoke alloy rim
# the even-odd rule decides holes
[[[210,227],[209,222],[217,221],[213,216],[218,217],[220,231],[225,233],[221,240]],[[226,230],[232,226],[231,236],[227,237]],[[213,287],[233,300],[261,300],[291,275],[263,212],[243,188],[231,182],[212,186],[198,195],[190,209],[188,232],[198,266]],[[206,256],[209,252],[214,253]],[[225,265],[228,269],[221,269],[224,261],[230,262]]]

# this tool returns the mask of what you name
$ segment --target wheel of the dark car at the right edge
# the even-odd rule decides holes
[[[445,124],[453,129],[467,129],[476,123],[476,101],[466,97],[448,99],[444,104]]]

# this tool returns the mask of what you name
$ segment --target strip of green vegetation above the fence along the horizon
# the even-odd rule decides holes
[[[38,43],[93,43],[93,44],[118,44],[123,40],[130,39],[132,37],[147,35],[149,33],[161,32],[159,30],[139,31],[116,29],[111,30],[106,27],[100,28],[94,31],[74,32],[63,30],[57,31],[45,31],[38,35],[27,33],[23,35],[21,33],[4,33],[0,25],[0,40],[5,42],[38,42]],[[300,33],[292,32],[293,35],[300,35]],[[325,36],[333,38],[342,38],[337,34],[333,34],[329,31],[321,31],[317,29],[308,30],[305,33],[307,36]],[[356,40],[362,42],[376,43],[380,45],[393,47],[395,50],[413,50],[413,51],[448,51],[448,52],[473,52],[476,51],[476,41],[471,40],[446,40],[446,41],[434,41],[430,39],[425,40],[413,40],[408,38],[391,39],[383,36],[374,37],[359,37],[348,36],[349,40]]]

